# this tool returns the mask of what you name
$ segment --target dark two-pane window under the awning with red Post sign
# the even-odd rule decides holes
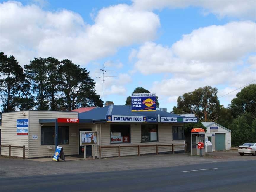
[[[69,143],[69,127],[59,126],[59,144]],[[55,127],[43,126],[41,127],[41,145],[55,145]]]

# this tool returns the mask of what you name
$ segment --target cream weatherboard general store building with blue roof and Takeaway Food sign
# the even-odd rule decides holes
[[[127,105],[108,105],[85,112],[16,111],[2,114],[1,145],[25,145],[26,158],[47,157],[55,145],[63,147],[65,156],[83,155],[80,131],[98,131],[101,146],[184,144],[183,125],[191,122],[196,123],[198,119],[159,110],[131,112],[131,106]],[[174,148],[175,152],[184,150],[185,146]],[[159,153],[170,151],[170,146],[158,149]],[[155,152],[154,147],[140,149],[140,154]],[[91,147],[86,147],[86,154],[92,154]],[[8,148],[1,147],[1,155],[8,155]],[[11,156],[22,155],[19,148],[11,151]],[[122,148],[121,156],[125,155],[137,155],[137,148]],[[101,150],[101,157],[112,156],[118,156],[118,148]]]

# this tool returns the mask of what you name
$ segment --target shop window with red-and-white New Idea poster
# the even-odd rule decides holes
[[[130,143],[131,142],[130,125],[111,125],[110,143]]]

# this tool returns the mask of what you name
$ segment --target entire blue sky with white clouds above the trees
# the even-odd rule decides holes
[[[220,97],[256,79],[255,1],[0,2],[1,51],[21,65],[71,59],[90,71],[102,99],[95,77],[105,62],[106,75],[118,76],[106,78],[105,101],[122,105],[144,87],[172,111],[185,92],[210,85]]]

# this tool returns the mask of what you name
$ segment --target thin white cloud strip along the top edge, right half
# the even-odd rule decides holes
[[[136,9],[144,10],[161,10],[165,7],[169,9],[184,9],[189,6],[201,7],[204,14],[213,13],[217,17],[239,17],[239,18],[256,18],[256,2],[251,0],[166,0],[166,1],[141,1],[133,0],[133,6]]]

